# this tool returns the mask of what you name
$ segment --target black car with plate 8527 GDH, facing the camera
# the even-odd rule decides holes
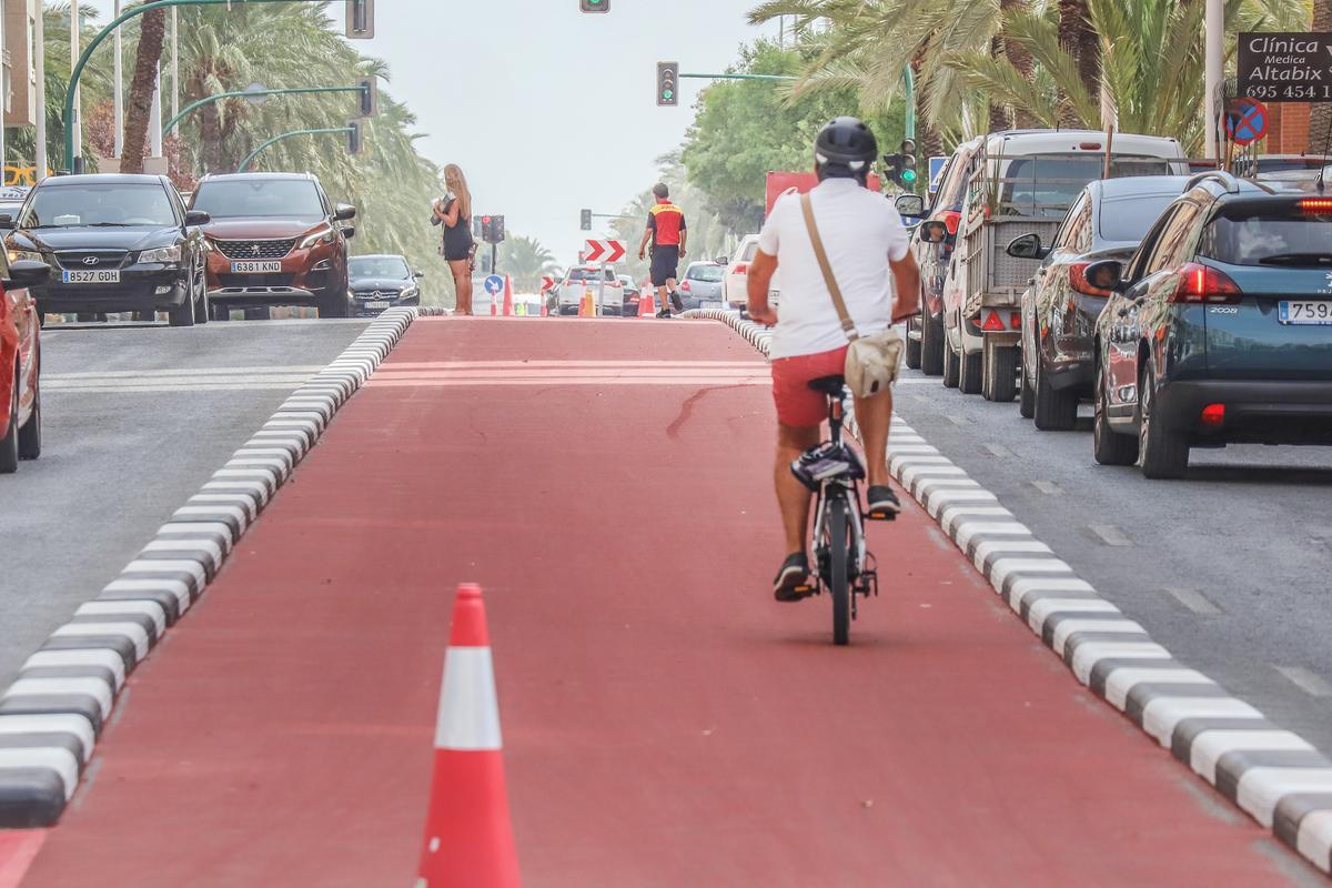
[[[32,288],[41,312],[165,310],[172,326],[208,320],[205,222],[165,176],[57,176],[32,189],[17,220],[0,214],[11,258],[51,268]]]

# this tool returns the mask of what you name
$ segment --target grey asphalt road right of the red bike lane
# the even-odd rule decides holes
[[[1179,659],[1332,751],[1332,449],[1193,450],[1184,481],[1098,466],[1079,431],[1038,431],[906,371],[898,411]]]

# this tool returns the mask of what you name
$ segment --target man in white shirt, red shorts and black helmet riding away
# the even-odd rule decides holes
[[[920,297],[920,272],[907,250],[902,217],[867,185],[878,150],[874,133],[854,117],[838,117],[814,141],[819,184],[810,200],[832,277],[860,335],[879,333],[894,320],[914,314]],[[782,302],[775,310],[767,302],[767,292],[778,265]],[[773,592],[779,602],[797,602],[805,598],[799,590],[807,587],[810,572],[805,551],[810,491],[791,474],[790,465],[819,443],[826,403],[809,382],[842,374],[847,338],[794,189],[778,198],[759,233],[758,253],[749,272],[749,312],[755,321],[775,325],[770,351],[778,421],[775,483],[790,554],[777,574]],[[902,506],[888,486],[891,390],[855,398],[855,418],[868,463],[867,511],[895,517]]]

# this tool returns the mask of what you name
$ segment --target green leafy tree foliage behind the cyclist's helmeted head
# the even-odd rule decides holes
[[[727,73],[798,75],[805,53],[759,40],[741,49]],[[864,114],[884,152],[903,136],[902,103],[891,114],[868,113],[854,85],[793,93],[766,81],[718,81],[703,91],[682,161],[707,209],[734,234],[757,232],[770,170],[811,169],[819,128],[840,114]],[[693,240],[693,237],[691,237]]]

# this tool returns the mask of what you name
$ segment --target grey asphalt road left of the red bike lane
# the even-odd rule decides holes
[[[365,324],[48,326],[43,455],[0,477],[0,688]]]

